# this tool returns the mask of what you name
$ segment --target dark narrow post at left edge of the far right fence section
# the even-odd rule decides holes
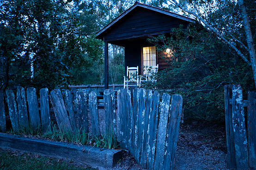
[[[234,143],[234,132],[232,123],[232,88],[233,85],[224,86],[225,95],[225,118],[226,118],[226,142],[227,142],[227,166],[228,168],[236,168],[236,152]]]

